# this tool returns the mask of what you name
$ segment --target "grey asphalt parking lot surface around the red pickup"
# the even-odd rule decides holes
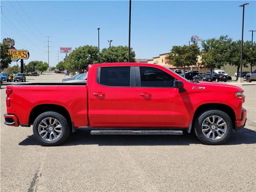
[[[60,82],[63,74],[27,77]],[[32,128],[8,127],[1,89],[1,191],[191,191],[256,190],[256,85],[242,85],[247,124],[221,146],[193,134],[90,135],[72,133],[61,146],[44,147]],[[10,83],[8,83],[10,84]]]

